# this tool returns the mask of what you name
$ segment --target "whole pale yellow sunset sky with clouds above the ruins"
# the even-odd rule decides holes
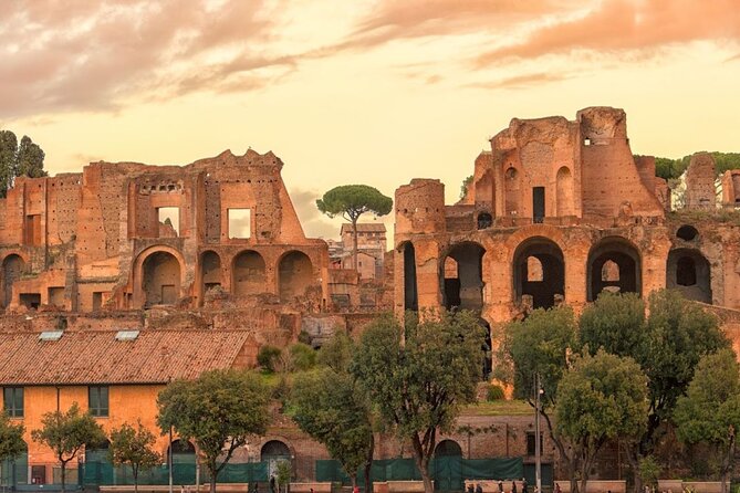
[[[0,128],[51,174],[272,150],[311,237],[338,185],[455,202],[514,117],[614,106],[635,154],[740,150],[740,0],[2,0],[0,39]]]

